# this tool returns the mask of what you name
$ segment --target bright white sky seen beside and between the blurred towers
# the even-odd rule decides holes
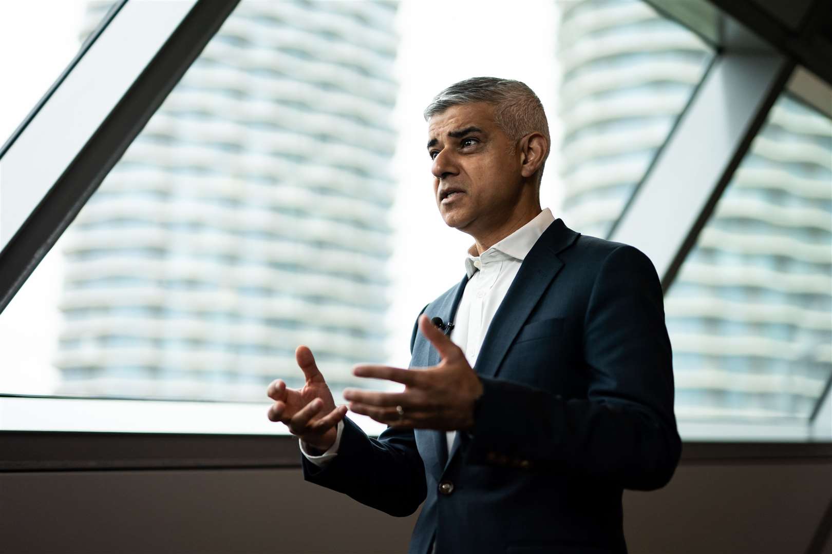
[[[14,83],[2,88],[0,140],[11,135],[77,52],[77,30],[86,3],[0,3],[0,75],[5,83]],[[399,143],[393,163],[399,198],[390,218],[397,233],[390,269],[393,306],[387,323],[391,363],[407,365],[415,316],[463,276],[463,258],[473,243],[468,235],[445,226],[433,202],[422,110],[438,91],[455,81],[470,76],[513,78],[540,96],[552,137],[557,137],[555,10],[553,2],[546,0],[515,0],[511,7],[502,2],[447,0],[399,4],[401,92],[395,114]],[[541,202],[557,214],[556,168],[557,145],[553,145]],[[14,360],[6,366],[13,370],[0,368],[0,392],[50,394],[57,382],[51,360],[60,325],[61,277],[55,248],[0,314],[0,351],[4,360]]]

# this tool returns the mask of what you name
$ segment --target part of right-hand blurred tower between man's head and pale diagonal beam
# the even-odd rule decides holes
[[[606,237],[711,59],[636,0],[558,2],[563,219]]]

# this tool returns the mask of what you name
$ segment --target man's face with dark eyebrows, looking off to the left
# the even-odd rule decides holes
[[[494,122],[493,105],[454,105],[428,120],[433,194],[449,227],[482,233],[518,203],[520,159]]]

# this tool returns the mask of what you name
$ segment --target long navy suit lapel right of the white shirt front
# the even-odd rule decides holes
[[[541,235],[523,260],[503,302],[494,314],[474,369],[479,375],[496,376],[508,347],[517,336],[543,292],[563,267],[557,253],[577,238],[560,219],[556,219]]]

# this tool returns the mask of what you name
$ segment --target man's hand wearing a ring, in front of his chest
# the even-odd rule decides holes
[[[393,427],[462,431],[473,428],[474,401],[483,384],[468,365],[463,351],[428,316],[418,319],[419,330],[439,353],[433,367],[403,370],[387,365],[356,365],[353,375],[404,384],[404,392],[346,389],[349,409]]]

